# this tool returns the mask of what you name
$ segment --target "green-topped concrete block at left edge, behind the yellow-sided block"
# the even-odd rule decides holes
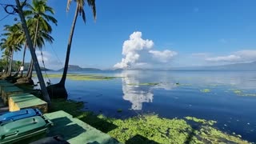
[[[2,101],[4,104],[8,104],[8,98],[11,94],[22,94],[24,91],[17,86],[5,86],[2,87],[1,94],[2,94]]]

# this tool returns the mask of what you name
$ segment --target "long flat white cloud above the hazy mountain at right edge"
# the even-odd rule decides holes
[[[205,59],[208,62],[254,62],[256,50],[240,50],[227,56],[218,56]]]

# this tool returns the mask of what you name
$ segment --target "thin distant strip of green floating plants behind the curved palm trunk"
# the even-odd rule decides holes
[[[62,74],[48,74],[48,78],[62,78]],[[96,80],[110,80],[118,77],[105,77],[102,75],[85,75],[85,74],[67,74],[67,78],[74,81],[96,81]]]

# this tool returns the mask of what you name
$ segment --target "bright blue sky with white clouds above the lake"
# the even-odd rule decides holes
[[[75,3],[48,0],[58,26],[53,44],[42,48],[46,67],[64,66]],[[28,0],[31,2],[31,0]],[[0,0],[14,3],[14,0]],[[216,66],[256,61],[255,0],[96,0],[97,19],[85,6],[78,17],[70,64],[100,69]],[[7,14],[0,7],[0,19]],[[14,23],[18,15],[0,21]],[[42,63],[40,52],[38,60]],[[22,52],[14,55],[22,59]],[[27,51],[26,62],[30,61]]]

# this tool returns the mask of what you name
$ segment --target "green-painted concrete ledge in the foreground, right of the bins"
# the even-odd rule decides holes
[[[44,114],[54,126],[50,128],[47,136],[61,135],[67,142],[71,144],[76,143],[104,143],[104,144],[118,144],[119,142],[110,137],[109,134],[102,133],[102,131],[95,129],[82,122],[78,118],[73,118],[72,115],[65,111],[56,111],[49,114]]]

